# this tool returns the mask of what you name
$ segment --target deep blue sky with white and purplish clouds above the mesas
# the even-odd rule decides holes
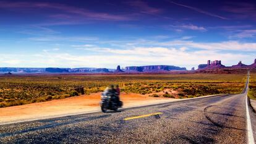
[[[255,40],[255,1],[0,0],[0,67],[252,64]]]

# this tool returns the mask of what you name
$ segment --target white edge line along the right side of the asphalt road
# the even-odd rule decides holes
[[[247,76],[247,90],[249,88],[249,72]],[[248,91],[247,91],[248,93]],[[252,130],[252,123],[250,122],[250,113],[249,113],[249,108],[248,108],[248,96],[246,94],[246,99],[245,99],[245,104],[246,104],[246,117],[247,117],[247,136],[248,136],[248,143],[249,144],[255,144],[254,141],[254,132]]]

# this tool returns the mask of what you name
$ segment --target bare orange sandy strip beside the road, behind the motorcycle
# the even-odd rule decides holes
[[[121,101],[124,102],[124,107],[161,103],[170,100],[171,98],[153,98],[147,95],[121,93]],[[99,102],[100,93],[93,93],[91,95],[75,96],[62,100],[0,108],[0,123],[80,112],[100,111]]]

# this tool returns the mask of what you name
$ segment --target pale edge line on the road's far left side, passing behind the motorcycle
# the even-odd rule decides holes
[[[156,105],[156,104],[173,103],[173,102],[177,102],[177,101],[188,101],[188,100],[195,100],[195,99],[202,99],[202,98],[210,98],[213,96],[223,96],[223,95],[229,95],[229,94],[200,96],[197,98],[178,99],[176,101],[164,101],[164,102],[160,102],[160,103],[143,104],[140,106],[127,106],[125,108],[120,108],[120,109],[139,108],[139,107],[143,107],[143,106],[151,106],[151,105]],[[80,112],[80,113],[78,112],[78,113],[74,113],[74,114],[64,114],[64,115],[59,115],[59,116],[50,116],[50,117],[43,117],[43,118],[41,117],[41,118],[35,118],[35,119],[32,118],[32,119],[26,119],[26,120],[22,120],[22,121],[3,122],[3,123],[0,123],[0,125],[16,124],[16,123],[20,123],[20,122],[31,122],[31,121],[38,121],[38,120],[44,120],[44,119],[54,119],[54,118],[58,118],[58,117],[75,116],[75,115],[80,115],[80,114],[92,114],[92,113],[96,113],[96,112],[101,112],[101,111],[88,111],[88,112]]]

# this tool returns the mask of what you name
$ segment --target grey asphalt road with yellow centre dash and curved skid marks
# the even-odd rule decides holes
[[[0,125],[0,143],[247,143],[246,92]]]

